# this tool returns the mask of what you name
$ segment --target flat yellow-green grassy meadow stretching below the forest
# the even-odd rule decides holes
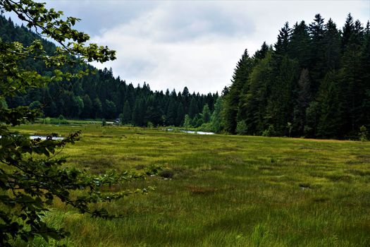
[[[155,191],[106,205],[123,219],[91,218],[56,201],[46,220],[70,231],[66,246],[370,246],[370,143],[92,124],[16,129],[81,130],[61,155],[93,173],[164,168],[128,185]]]

